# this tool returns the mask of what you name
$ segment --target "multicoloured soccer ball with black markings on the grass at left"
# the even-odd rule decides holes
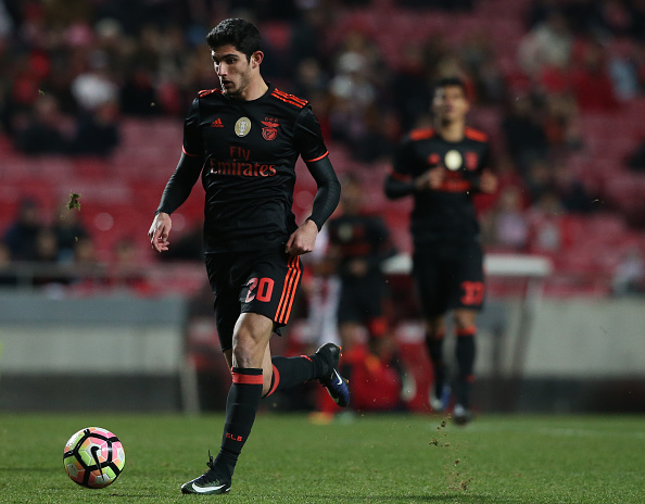
[[[105,488],[123,471],[125,451],[109,430],[87,427],[65,444],[63,465],[72,481],[81,487]]]

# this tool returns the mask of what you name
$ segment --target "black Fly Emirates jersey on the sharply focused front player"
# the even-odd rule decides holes
[[[201,91],[185,122],[184,153],[203,161],[206,253],[284,243],[298,228],[295,162],[328,155],[308,102],[273,86],[251,101]]]

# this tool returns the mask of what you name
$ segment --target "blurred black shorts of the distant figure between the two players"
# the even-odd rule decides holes
[[[383,313],[384,279],[381,275],[342,278],[338,303],[339,324],[367,324]]]

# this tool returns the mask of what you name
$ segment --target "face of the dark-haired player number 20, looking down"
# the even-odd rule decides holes
[[[251,61],[249,61],[246,54],[232,46],[222,46],[211,50],[213,65],[224,92],[230,97],[243,96],[257,68],[257,65],[254,64],[256,54],[252,54]]]

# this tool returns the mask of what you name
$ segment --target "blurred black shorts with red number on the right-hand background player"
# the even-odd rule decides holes
[[[426,317],[483,306],[483,253],[479,243],[417,245],[413,276]]]

